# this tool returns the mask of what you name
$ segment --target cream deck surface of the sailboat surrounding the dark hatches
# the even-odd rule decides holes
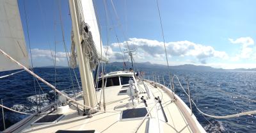
[[[76,106],[70,106],[67,113],[57,123],[46,125],[31,125],[38,120],[38,116],[32,118],[26,125],[20,127],[16,132],[57,132],[58,130],[95,130],[95,132],[192,132],[188,121],[184,118],[182,111],[173,102],[173,99],[165,93],[161,88],[155,88],[149,82],[145,82],[150,91],[150,99],[147,99],[147,110],[152,111],[142,122],[142,118],[132,120],[121,120],[121,113],[125,109],[131,109],[131,100],[128,95],[117,95],[122,86],[115,86],[106,89],[106,110],[107,113],[98,112],[92,114],[91,118],[83,116],[82,112],[77,113]],[[143,84],[139,85],[145,90]],[[114,95],[115,93],[115,95]],[[100,91],[97,92],[99,100]],[[147,97],[146,93],[141,93],[140,97]],[[160,97],[164,112],[166,113],[168,122],[165,122],[162,110],[154,99]],[[136,108],[143,108],[145,104],[139,98],[139,103]],[[83,103],[83,100],[79,100]],[[136,99],[136,102],[138,100]],[[129,104],[130,103],[130,104]],[[130,106],[129,106],[130,105]],[[79,107],[83,110],[83,107]],[[53,112],[56,113],[56,112]],[[139,127],[139,125],[141,125]]]

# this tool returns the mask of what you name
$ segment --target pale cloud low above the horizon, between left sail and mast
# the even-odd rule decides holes
[[[45,58],[45,59],[50,59],[52,61],[52,59],[54,59],[54,51],[51,51],[49,49],[31,49],[31,55],[32,58]],[[68,53],[69,54],[69,53]],[[60,62],[60,61],[66,61],[67,60],[67,56],[65,52],[56,52],[56,61]]]

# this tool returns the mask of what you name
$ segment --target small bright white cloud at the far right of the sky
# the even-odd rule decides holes
[[[253,54],[252,46],[254,45],[254,41],[252,38],[241,37],[241,38],[237,38],[236,40],[232,38],[229,38],[228,40],[231,43],[242,45],[241,51],[239,52],[239,54],[237,54],[234,58],[232,58],[233,61],[238,61],[239,59],[248,59],[252,57],[252,54]]]

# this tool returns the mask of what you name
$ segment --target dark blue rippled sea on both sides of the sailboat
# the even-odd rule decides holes
[[[113,69],[118,70],[120,68],[107,68],[108,71]],[[163,77],[166,86],[170,82],[167,69],[140,68],[140,70],[145,72],[145,79],[153,80],[153,75],[156,75],[157,81],[162,84]],[[59,90],[68,95],[79,91],[74,75],[75,72],[79,79],[77,69],[74,71],[70,69],[69,71],[68,68],[57,68],[56,82],[54,68],[35,68],[34,71],[51,84],[56,84]],[[17,70],[12,72],[17,72]],[[0,76],[12,72],[0,72]],[[195,100],[198,108],[204,113],[221,116],[256,110],[255,102],[241,98],[246,97],[256,100],[256,72],[198,72],[188,70],[170,70],[170,72],[179,76],[184,88],[188,87],[187,81],[189,81],[191,98]],[[3,99],[4,106],[26,113],[34,113],[37,108],[42,108],[54,102],[54,91],[45,86],[44,83],[38,82],[42,90],[37,82],[36,86],[34,86],[34,79],[27,72],[20,72],[0,79],[0,98]],[[81,84],[80,79],[78,82]],[[176,79],[175,93],[189,106],[188,97],[181,90]],[[40,100],[36,100],[36,95],[41,95]],[[38,104],[40,106],[37,106]],[[192,109],[196,118],[207,132],[256,132],[255,114],[238,118],[215,119],[203,116],[196,110],[195,106]],[[27,116],[13,113],[6,109],[4,109],[4,115],[6,127],[10,127],[13,123]],[[3,130],[2,114],[0,114],[0,130]]]

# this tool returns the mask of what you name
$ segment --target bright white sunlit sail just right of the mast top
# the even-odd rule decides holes
[[[93,42],[95,43],[95,47],[97,50],[97,54],[99,59],[102,59],[106,61],[106,56],[104,53],[104,49],[102,47],[102,42],[100,39],[100,33],[99,33],[99,26],[97,23],[97,18],[95,14],[95,9],[93,6],[93,1],[92,0],[83,0],[83,1],[77,1],[77,6],[78,6],[78,12],[79,12],[79,17],[77,17],[81,24],[81,22],[85,22],[90,26],[90,31],[92,32],[92,38]]]

